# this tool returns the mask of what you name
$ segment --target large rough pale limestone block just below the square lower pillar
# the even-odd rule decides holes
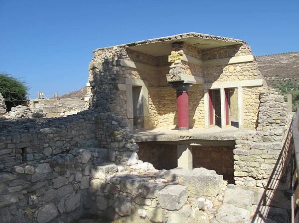
[[[216,197],[222,181],[223,176],[214,170],[194,168],[185,176],[183,185],[194,197]]]

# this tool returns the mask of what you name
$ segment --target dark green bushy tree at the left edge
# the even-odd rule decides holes
[[[16,78],[11,74],[0,73],[0,93],[5,98],[7,110],[17,105],[26,105],[26,96],[29,87],[22,78]]]

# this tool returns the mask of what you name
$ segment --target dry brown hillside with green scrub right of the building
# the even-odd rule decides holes
[[[283,93],[299,89],[299,52],[256,57],[269,86]]]

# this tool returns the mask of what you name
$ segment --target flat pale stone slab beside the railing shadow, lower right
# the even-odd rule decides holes
[[[240,189],[227,189],[225,191],[224,203],[232,204],[238,208],[250,211],[254,201],[254,192]]]

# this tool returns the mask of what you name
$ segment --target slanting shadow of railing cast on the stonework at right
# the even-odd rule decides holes
[[[257,204],[252,223],[260,222],[261,220],[267,221],[269,219],[282,223],[291,222],[289,218],[291,218],[291,197],[293,194],[293,122],[294,120],[291,123],[291,128],[288,131],[283,149],[279,153],[269,180],[263,184],[264,192]]]

